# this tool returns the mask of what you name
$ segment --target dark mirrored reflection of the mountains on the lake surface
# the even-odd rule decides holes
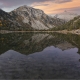
[[[23,54],[42,51],[48,46],[62,50],[77,47],[80,50],[80,36],[57,33],[13,33],[0,34],[0,54],[12,49]],[[78,53],[80,52],[78,50]]]

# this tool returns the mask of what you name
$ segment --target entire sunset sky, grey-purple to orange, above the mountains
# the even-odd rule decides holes
[[[41,9],[49,15],[64,11],[80,14],[80,0],[0,0],[0,8],[6,12],[23,5]]]

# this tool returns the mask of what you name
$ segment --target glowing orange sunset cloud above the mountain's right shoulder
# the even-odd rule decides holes
[[[55,3],[52,1],[46,1],[43,3],[33,3],[31,6],[43,10],[46,14],[56,14],[63,12],[67,8],[71,9],[74,7],[80,7],[80,0],[72,0],[71,2],[65,3]]]

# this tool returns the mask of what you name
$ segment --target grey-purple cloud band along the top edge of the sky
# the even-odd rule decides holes
[[[20,5],[31,5],[32,3],[39,3],[39,2],[53,2],[53,3],[65,3],[71,2],[72,0],[0,0],[1,8],[3,7],[14,7]]]

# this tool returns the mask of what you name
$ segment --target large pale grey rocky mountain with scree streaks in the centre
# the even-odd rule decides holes
[[[62,25],[63,21],[60,19],[53,19],[46,15],[42,10],[34,9],[28,6],[21,6],[12,12],[16,20],[24,27],[29,26],[34,30],[48,30],[58,25]]]

